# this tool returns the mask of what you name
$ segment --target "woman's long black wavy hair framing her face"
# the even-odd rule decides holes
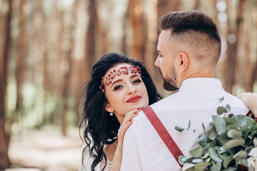
[[[105,93],[99,89],[102,76],[104,76],[110,68],[120,63],[127,63],[141,68],[142,81],[146,86],[149,97],[148,105],[162,99],[162,96],[158,93],[142,61],[128,58],[122,53],[112,52],[103,55],[95,63],[91,72],[91,78],[85,86],[83,120],[79,125],[80,131],[85,127],[83,139],[85,140],[86,147],[83,149],[82,163],[86,153],[89,153],[89,156],[94,159],[91,165],[92,171],[95,171],[95,166],[97,166],[103,158],[105,159],[106,165],[107,158],[103,147],[116,140],[118,129],[121,125],[115,115],[110,116],[110,112],[105,110],[107,99]],[[84,163],[83,166],[85,167]]]

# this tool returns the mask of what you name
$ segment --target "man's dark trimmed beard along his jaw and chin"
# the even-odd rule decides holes
[[[162,75],[162,72],[160,70],[160,74]],[[162,75],[162,78],[163,78],[163,88],[164,90],[167,90],[167,91],[175,91],[178,89],[177,87],[177,74],[176,74],[176,71],[175,71],[175,67],[173,66],[171,71],[168,72],[168,74],[165,76],[165,78],[163,77]]]

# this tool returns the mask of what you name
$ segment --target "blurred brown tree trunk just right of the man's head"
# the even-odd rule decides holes
[[[228,3],[227,3],[228,4]],[[246,4],[246,0],[240,0],[239,2],[239,10],[236,15],[236,26],[234,29],[231,28],[230,24],[228,24],[228,34],[234,34],[236,36],[236,42],[230,43],[227,42],[227,58],[225,60],[225,73],[224,73],[224,83],[225,83],[225,91],[228,93],[232,93],[232,86],[235,83],[235,68],[236,68],[236,56],[237,56],[237,45],[239,42],[240,36],[240,24],[243,21],[243,12]],[[228,17],[228,22],[230,22]]]

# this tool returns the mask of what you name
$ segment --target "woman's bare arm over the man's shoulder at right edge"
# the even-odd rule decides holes
[[[238,98],[252,111],[254,117],[257,117],[257,93],[243,93]]]

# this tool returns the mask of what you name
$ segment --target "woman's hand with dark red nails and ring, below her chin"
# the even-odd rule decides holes
[[[125,114],[125,118],[122,122],[122,125],[124,127],[121,125],[118,130],[118,147],[121,151],[123,148],[123,139],[124,139],[125,132],[127,131],[128,127],[132,124],[133,122],[132,119],[136,117],[138,115],[138,112],[141,110],[142,110],[141,108],[132,109],[131,111]]]

